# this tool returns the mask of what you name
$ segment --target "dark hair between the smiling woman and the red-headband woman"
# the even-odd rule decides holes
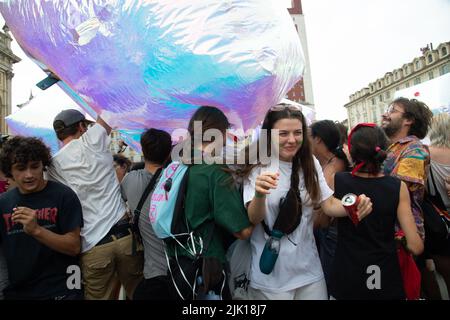
[[[331,120],[321,120],[314,122],[311,126],[311,135],[319,137],[328,151],[334,154],[338,159],[344,161],[345,171],[350,170],[350,163],[344,153],[342,145],[342,135],[337,124]]]

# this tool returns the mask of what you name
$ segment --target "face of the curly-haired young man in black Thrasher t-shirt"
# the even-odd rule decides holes
[[[22,194],[38,192],[45,187],[42,161],[15,163],[11,167],[11,175]]]

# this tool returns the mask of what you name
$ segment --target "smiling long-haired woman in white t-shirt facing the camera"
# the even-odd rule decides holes
[[[251,236],[252,264],[248,297],[250,299],[327,299],[327,289],[313,236],[313,208],[321,207],[330,216],[346,216],[341,202],[327,186],[319,162],[313,157],[307,125],[301,109],[281,104],[266,114],[262,129],[267,130],[267,150],[271,136],[278,138],[265,165],[247,165],[241,172],[244,203],[250,221],[256,226]],[[273,131],[273,129],[278,129]],[[264,137],[264,133],[260,137]],[[275,144],[275,143],[274,143]],[[259,147],[262,147],[259,141]],[[281,198],[293,186],[300,194],[302,216],[293,232],[281,238],[280,252],[269,274],[259,267],[261,253],[279,213]],[[372,210],[372,203],[360,196],[358,218]],[[266,225],[266,231],[263,222]]]

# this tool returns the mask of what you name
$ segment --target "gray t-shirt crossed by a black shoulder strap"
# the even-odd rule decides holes
[[[128,201],[128,207],[134,212],[152,174],[145,169],[129,172],[120,185],[122,197]],[[150,279],[167,274],[167,262],[164,254],[164,242],[153,231],[148,212],[152,192],[148,195],[139,216],[139,230],[144,244],[144,277]]]

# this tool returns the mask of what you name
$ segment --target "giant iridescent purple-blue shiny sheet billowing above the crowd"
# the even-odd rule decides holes
[[[304,69],[278,2],[3,0],[0,11],[28,56],[112,127],[172,131],[214,105],[248,129]]]

